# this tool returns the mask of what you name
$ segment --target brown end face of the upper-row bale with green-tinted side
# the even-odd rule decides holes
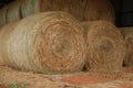
[[[83,21],[82,0],[41,0],[41,12],[43,11],[64,11],[72,14],[75,19]]]

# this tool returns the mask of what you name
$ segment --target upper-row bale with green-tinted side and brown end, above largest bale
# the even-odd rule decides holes
[[[82,0],[22,0],[22,16],[47,11],[64,11],[83,20]]]

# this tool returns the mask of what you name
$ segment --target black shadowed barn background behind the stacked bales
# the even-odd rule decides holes
[[[13,0],[0,0],[0,8]],[[116,26],[133,26],[133,0],[111,0]]]

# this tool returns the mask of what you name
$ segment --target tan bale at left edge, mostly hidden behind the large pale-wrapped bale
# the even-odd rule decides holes
[[[17,26],[18,23],[10,23],[1,28],[0,30],[0,65],[6,65],[10,61],[7,61],[7,48],[6,48],[6,42],[8,35],[11,33],[11,31]]]

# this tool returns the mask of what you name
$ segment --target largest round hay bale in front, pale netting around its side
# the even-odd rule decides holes
[[[9,29],[3,29],[9,30]],[[63,12],[25,18],[7,37],[8,65],[44,74],[79,72],[84,65],[84,38],[80,22]]]

